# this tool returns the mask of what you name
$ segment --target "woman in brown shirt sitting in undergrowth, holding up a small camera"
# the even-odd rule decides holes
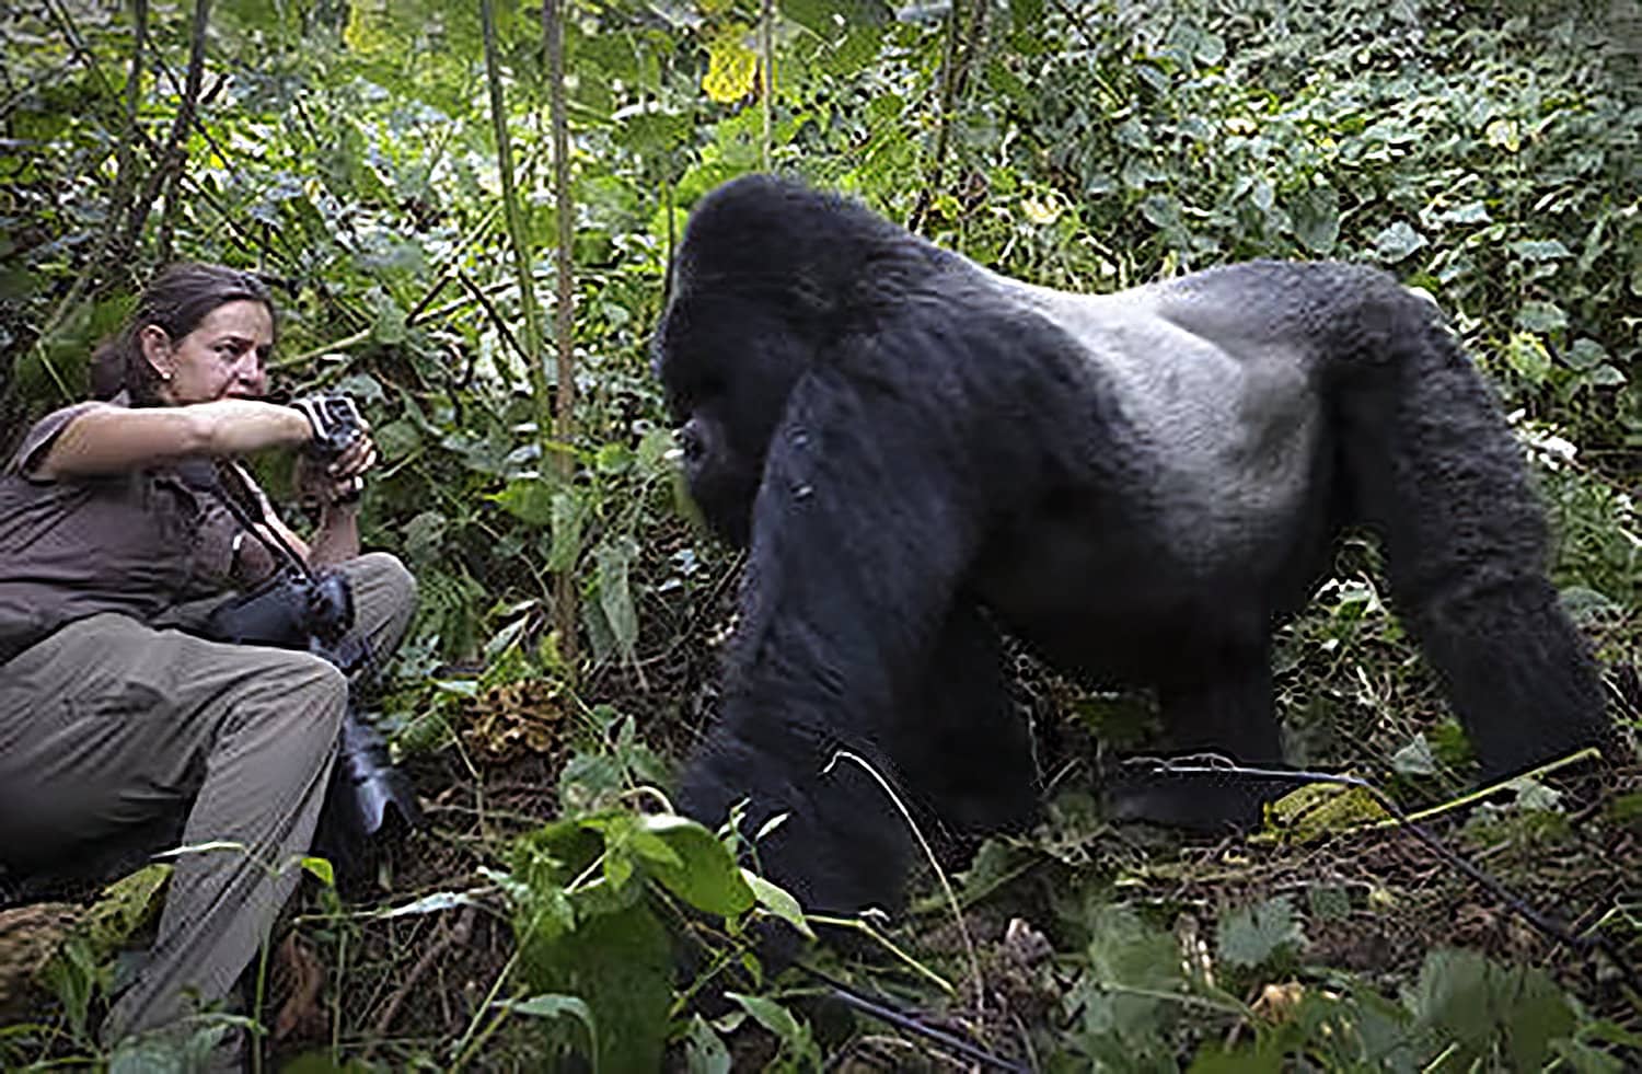
[[[99,355],[110,401],[46,415],[0,475],[0,865],[28,875],[82,847],[186,815],[159,934],[108,1013],[105,1040],[222,1000],[291,895],[325,798],[348,683],[320,657],[205,640],[190,629],[274,568],[238,519],[259,512],[310,565],[353,588],[356,631],[386,657],[414,583],[360,557],[360,437],[299,470],[320,522],[304,544],[235,457],[305,445],[315,420],[263,402],[274,307],[245,273],[181,264]],[[97,379],[97,378],[94,378]],[[115,384],[107,384],[113,388]],[[227,486],[255,503],[230,511]]]

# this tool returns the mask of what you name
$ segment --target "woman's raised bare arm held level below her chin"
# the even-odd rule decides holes
[[[215,399],[176,407],[92,407],[57,434],[36,473],[99,476],[187,455],[241,455],[314,438],[292,407],[256,399]]]

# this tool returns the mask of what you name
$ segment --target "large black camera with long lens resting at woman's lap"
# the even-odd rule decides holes
[[[369,649],[348,634],[351,626],[353,590],[345,575],[286,568],[220,604],[202,634],[241,645],[305,649],[355,675],[369,670]],[[360,857],[365,839],[383,828],[389,810],[396,810],[406,826],[422,823],[409,780],[394,769],[388,742],[360,713],[353,695],[350,686],[337,767],[315,838],[315,846],[333,861]]]

